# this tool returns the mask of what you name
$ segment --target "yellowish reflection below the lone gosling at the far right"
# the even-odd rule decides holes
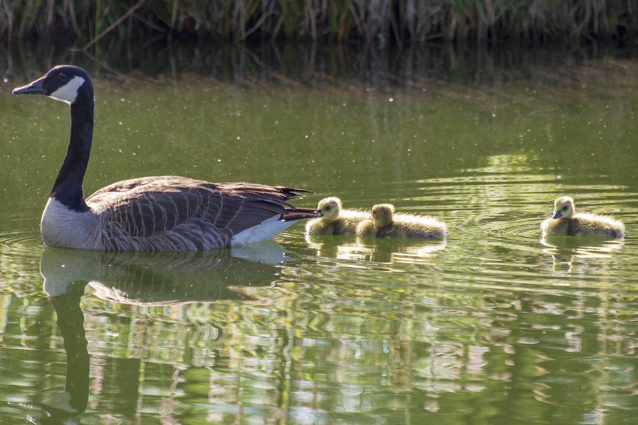
[[[551,255],[554,272],[572,272],[576,258],[608,258],[613,251],[623,247],[623,239],[600,241],[597,237],[565,237],[543,235],[540,243],[543,252]]]

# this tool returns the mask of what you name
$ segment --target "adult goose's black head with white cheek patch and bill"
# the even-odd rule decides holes
[[[56,66],[31,84],[13,90],[13,94],[44,94],[69,105],[78,100],[80,93],[93,100],[93,84],[85,70],[72,65]]]

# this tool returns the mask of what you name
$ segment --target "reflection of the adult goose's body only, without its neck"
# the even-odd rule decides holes
[[[156,255],[159,254],[159,255]],[[285,251],[275,241],[233,250],[107,253],[47,247],[40,272],[50,297],[84,281],[98,297],[138,305],[241,299],[232,286],[269,285]]]

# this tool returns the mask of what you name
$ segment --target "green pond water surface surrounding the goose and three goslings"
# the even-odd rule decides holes
[[[297,223],[197,253],[43,249],[68,107],[10,95],[48,66],[10,75],[3,424],[636,423],[638,60],[532,62],[404,66],[392,84],[94,65],[85,193],[163,174],[285,184],[316,193],[295,205],[391,202],[449,228],[376,241]],[[627,236],[542,238],[560,195]]]

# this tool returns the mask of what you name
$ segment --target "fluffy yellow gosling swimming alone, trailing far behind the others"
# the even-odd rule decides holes
[[[621,221],[598,214],[576,214],[574,200],[556,198],[554,215],[540,223],[545,235],[556,236],[613,236],[623,237],[625,225]]]

